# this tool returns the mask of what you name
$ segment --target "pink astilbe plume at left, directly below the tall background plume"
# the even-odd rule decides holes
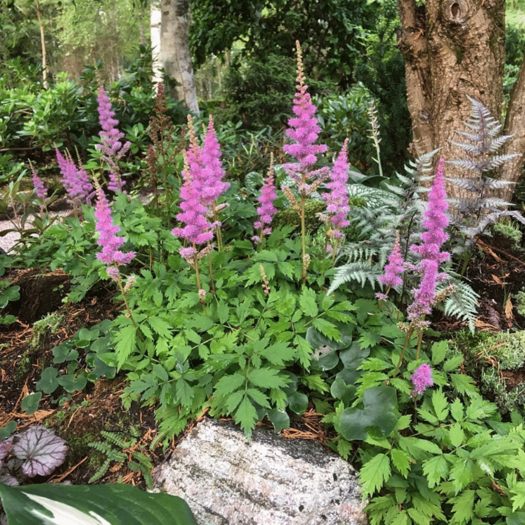
[[[104,262],[107,265],[127,265],[135,257],[133,251],[123,253],[119,248],[124,243],[124,237],[117,237],[119,233],[119,226],[113,225],[113,219],[111,217],[111,209],[109,208],[106,195],[100,188],[97,187],[97,206],[95,209],[95,228],[99,233],[97,243],[102,247],[101,253],[97,254],[97,259]],[[110,270],[108,268],[108,270]],[[113,274],[116,272],[110,270],[108,275],[113,278]]]

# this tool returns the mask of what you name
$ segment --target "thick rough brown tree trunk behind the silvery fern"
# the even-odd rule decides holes
[[[469,95],[501,117],[505,68],[505,0],[398,0],[401,30],[398,46],[405,58],[408,110],[412,118],[414,157],[442,148],[445,159],[463,158],[464,150],[450,144],[461,141],[454,130],[465,130],[470,114]],[[523,152],[525,141],[525,78],[514,87],[505,134],[516,133],[505,152]],[[521,142],[520,142],[521,137]],[[520,148],[520,149],[517,149]],[[503,165],[501,176],[517,182],[523,155]],[[472,176],[455,170],[453,176]],[[509,198],[513,186],[502,195]],[[469,196],[448,186],[450,196]]]

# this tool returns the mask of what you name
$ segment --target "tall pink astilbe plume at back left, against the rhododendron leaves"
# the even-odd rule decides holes
[[[119,175],[118,162],[130,149],[131,142],[128,141],[122,144],[121,140],[124,138],[124,133],[117,128],[119,121],[114,118],[115,112],[111,109],[108,93],[102,86],[98,89],[97,100],[99,122],[102,127],[99,135],[102,144],[97,144],[95,147],[103,153],[102,159],[109,166],[110,182],[108,189],[113,192],[120,192],[124,182]]]

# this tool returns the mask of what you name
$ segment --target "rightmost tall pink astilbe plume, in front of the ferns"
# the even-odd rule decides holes
[[[430,313],[436,298],[436,285],[446,274],[439,273],[439,265],[450,258],[446,251],[440,251],[442,244],[448,239],[445,228],[448,226],[446,214],[448,203],[445,192],[443,158],[439,159],[432,187],[428,192],[428,209],[423,227],[426,229],[421,236],[423,242],[419,246],[411,246],[411,250],[422,256],[417,269],[421,272],[419,288],[413,291],[414,302],[407,308],[408,319],[418,319]]]

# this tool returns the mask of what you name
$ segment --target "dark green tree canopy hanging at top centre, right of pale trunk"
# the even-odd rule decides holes
[[[378,10],[372,3],[336,0],[206,0],[190,5],[190,50],[197,65],[211,55],[224,56],[237,40],[243,42],[243,57],[261,61],[271,54],[293,57],[299,40],[311,77],[341,89],[353,82],[354,66],[364,50],[363,28],[374,27]]]

